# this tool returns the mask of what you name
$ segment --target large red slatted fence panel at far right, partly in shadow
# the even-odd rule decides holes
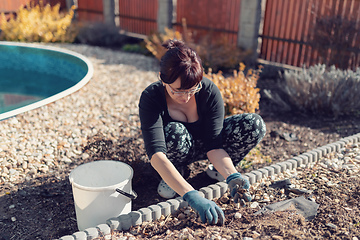
[[[293,66],[360,65],[360,0],[267,0],[260,58]]]

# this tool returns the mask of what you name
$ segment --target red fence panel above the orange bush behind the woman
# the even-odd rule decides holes
[[[178,0],[175,28],[183,32],[182,20],[195,40],[210,34],[212,39],[225,38],[237,43],[240,0]]]

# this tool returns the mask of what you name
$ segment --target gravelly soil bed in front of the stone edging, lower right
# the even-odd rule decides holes
[[[359,144],[348,144],[316,163],[303,164],[297,169],[286,170],[263,178],[251,185],[252,202],[245,207],[229,199],[228,192],[214,199],[226,215],[224,226],[209,226],[195,220],[196,214],[189,207],[179,209],[171,216],[144,222],[129,231],[115,231],[113,238],[130,239],[351,239],[358,240],[360,231],[360,172]],[[290,188],[271,187],[276,181],[289,180]],[[302,193],[299,193],[299,190]],[[257,215],[269,204],[303,196],[306,207],[282,207]],[[305,201],[306,201],[305,200]],[[314,206],[312,206],[314,207]],[[300,210],[301,209],[301,210]],[[310,211],[310,210],[313,211]],[[303,212],[302,212],[303,211]],[[304,215],[306,212],[306,216]],[[309,213],[312,213],[311,215]],[[310,215],[310,216],[309,216]]]

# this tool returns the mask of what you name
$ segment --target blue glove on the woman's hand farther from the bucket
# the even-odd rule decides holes
[[[226,183],[229,185],[230,195],[234,198],[235,203],[238,203],[241,198],[247,202],[251,202],[252,197],[248,191],[245,191],[242,196],[240,196],[239,189],[248,190],[250,188],[249,181],[244,179],[240,173],[233,173],[228,176]]]

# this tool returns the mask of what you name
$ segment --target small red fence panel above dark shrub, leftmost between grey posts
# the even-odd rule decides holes
[[[83,22],[103,22],[102,0],[78,0],[77,17]]]

